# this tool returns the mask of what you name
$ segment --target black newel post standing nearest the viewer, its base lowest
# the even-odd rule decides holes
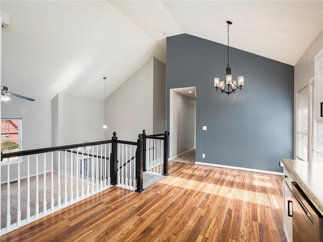
[[[138,135],[137,151],[136,151],[136,179],[137,179],[137,192],[143,192],[143,139],[142,135]]]

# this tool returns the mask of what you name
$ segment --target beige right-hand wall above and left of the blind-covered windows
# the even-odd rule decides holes
[[[323,49],[323,31],[315,38],[294,67],[294,159],[296,158],[296,92],[314,76],[314,57]]]

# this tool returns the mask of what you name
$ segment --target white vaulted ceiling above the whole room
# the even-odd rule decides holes
[[[323,1],[1,1],[2,85],[34,99],[104,98],[187,33],[295,65],[323,29]],[[224,60],[225,61],[225,60]]]

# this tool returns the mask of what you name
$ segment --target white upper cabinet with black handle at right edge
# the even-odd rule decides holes
[[[323,49],[314,58],[314,115],[323,122]]]

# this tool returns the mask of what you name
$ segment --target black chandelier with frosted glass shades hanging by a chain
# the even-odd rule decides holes
[[[221,90],[222,93],[225,92],[228,95],[231,94],[232,92],[235,92],[237,88],[241,90],[243,84],[244,84],[244,78],[243,76],[238,76],[238,85],[236,80],[232,80],[232,75],[231,75],[231,68],[229,64],[229,25],[232,24],[231,21],[227,21],[228,23],[228,65],[226,68],[227,75],[226,75],[226,80],[225,81],[220,81],[219,77],[214,78],[214,87],[217,88],[217,90]],[[228,87],[228,88],[226,88]]]

